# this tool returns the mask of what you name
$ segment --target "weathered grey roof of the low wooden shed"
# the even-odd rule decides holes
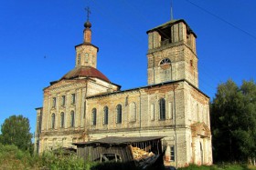
[[[93,145],[93,144],[107,144],[107,145],[129,145],[133,143],[142,143],[154,141],[164,138],[165,136],[140,136],[140,137],[118,137],[109,136],[94,141],[74,143],[73,145]]]

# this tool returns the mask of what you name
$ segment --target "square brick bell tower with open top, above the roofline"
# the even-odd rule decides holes
[[[171,20],[146,33],[148,85],[187,80],[198,87],[197,35],[187,23],[182,19]]]

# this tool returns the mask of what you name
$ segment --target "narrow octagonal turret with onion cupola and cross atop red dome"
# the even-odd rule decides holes
[[[87,21],[84,23],[83,30],[83,43],[76,45],[76,67],[78,66],[92,66],[97,68],[97,53],[99,48],[91,44],[91,23],[89,15],[91,14],[90,8],[86,8]]]

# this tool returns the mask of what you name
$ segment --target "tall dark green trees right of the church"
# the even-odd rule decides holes
[[[256,85],[232,80],[218,86],[211,103],[212,142],[216,161],[244,161],[256,154]]]

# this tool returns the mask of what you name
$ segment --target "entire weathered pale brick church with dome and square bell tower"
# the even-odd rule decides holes
[[[209,97],[198,89],[197,35],[184,20],[148,30],[147,82],[121,90],[97,69],[91,23],[76,65],[44,88],[35,151],[75,147],[106,136],[165,136],[165,165],[211,165]]]

